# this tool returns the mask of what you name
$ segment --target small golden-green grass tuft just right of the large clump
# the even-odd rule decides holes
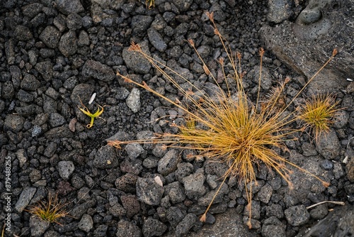
[[[332,118],[338,109],[333,96],[329,94],[313,95],[298,108],[297,117],[304,123],[304,128],[312,131],[315,140],[319,139],[322,133],[328,133]]]

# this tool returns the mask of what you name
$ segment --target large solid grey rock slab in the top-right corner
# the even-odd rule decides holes
[[[337,48],[338,55],[309,84],[312,92],[335,92],[346,89],[346,78],[354,78],[353,22],[354,1],[310,0],[295,22],[263,26],[260,33],[268,50],[308,78]]]

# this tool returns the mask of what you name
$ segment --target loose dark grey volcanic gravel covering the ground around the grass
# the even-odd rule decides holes
[[[149,138],[169,130],[168,123],[156,118],[176,114],[165,101],[115,76],[118,71],[144,80],[168,97],[178,94],[149,63],[127,51],[131,42],[202,87],[208,79],[186,40],[195,40],[200,55],[217,72],[215,59],[223,54],[222,45],[205,16],[205,11],[213,11],[232,50],[242,53],[245,88],[252,96],[258,87],[258,49],[265,46],[259,37],[261,27],[283,21],[274,20],[280,13],[269,11],[266,1],[156,0],[155,4],[147,9],[144,1],[137,0],[0,2],[0,163],[4,167],[0,221],[11,213],[6,236],[296,236],[324,219],[335,205],[307,206],[331,200],[353,207],[354,100],[346,78],[342,88],[336,85],[336,100],[343,110],[329,136],[312,143],[303,133],[299,140],[287,142],[289,152],[284,154],[331,186],[325,189],[294,170],[295,189],[289,190],[278,175],[260,167],[258,186],[253,188],[251,230],[244,224],[248,215],[244,187],[232,177],[210,209],[207,224],[199,221],[225,165],[189,161],[178,150],[158,145],[127,145],[125,150],[106,145],[112,136]],[[306,4],[300,1],[283,13],[294,21]],[[327,58],[322,57],[324,62]],[[263,93],[288,76],[292,81],[286,97],[291,99],[307,79],[270,51],[264,63]],[[97,96],[89,105],[93,93]],[[104,119],[96,118],[92,128],[86,128],[90,118],[79,109],[80,99],[91,112],[104,106]],[[5,183],[8,160],[10,186]],[[9,202],[7,193],[12,193]],[[70,216],[60,219],[62,225],[47,224],[25,211],[49,193],[67,203]],[[330,220],[340,226],[343,221],[338,220],[343,218],[338,216],[350,213],[348,208]],[[353,224],[347,222],[344,225]],[[353,234],[353,228],[348,229]]]

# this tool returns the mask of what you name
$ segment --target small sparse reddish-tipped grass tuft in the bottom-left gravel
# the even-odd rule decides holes
[[[49,195],[47,202],[38,202],[37,206],[31,206],[30,210],[26,211],[35,216],[39,216],[43,221],[54,222],[62,226],[62,224],[59,223],[59,219],[69,216],[65,206],[67,206],[67,204],[59,202],[56,194],[55,197]]]

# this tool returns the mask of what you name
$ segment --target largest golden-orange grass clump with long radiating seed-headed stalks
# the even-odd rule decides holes
[[[297,119],[297,117],[292,116],[291,113],[285,113],[289,104],[282,109],[279,109],[277,106],[285,84],[289,82],[289,79],[285,79],[285,82],[282,82],[280,87],[273,90],[273,94],[270,95],[267,101],[262,101],[261,103],[259,95],[261,89],[260,73],[256,103],[251,102],[247,97],[242,84],[241,70],[239,67],[241,55],[238,53],[235,55],[232,54],[231,50],[227,47],[226,40],[224,40],[217,30],[212,13],[207,13],[207,16],[210,18],[210,21],[215,28],[215,34],[219,36],[224,50],[227,52],[227,60],[229,60],[232,65],[232,70],[234,72],[233,77],[236,81],[236,92],[232,94],[232,89],[229,88],[229,84],[227,84],[227,92],[224,92],[219,86],[215,76],[210,74],[210,70],[207,70],[207,65],[198,54],[193,40],[189,40],[191,47],[195,50],[198,57],[200,57],[205,72],[214,79],[215,84],[219,88],[216,99],[215,97],[209,97],[207,95],[198,97],[197,94],[203,94],[200,88],[195,87],[195,85],[188,82],[187,79],[178,75],[177,72],[166,67],[167,70],[170,70],[173,74],[178,75],[184,79],[185,82],[189,83],[190,88],[192,88],[191,90],[183,89],[171,76],[169,76],[168,73],[159,67],[159,65],[161,65],[160,62],[144,53],[139,45],[133,43],[130,50],[141,53],[152,63],[152,65],[154,65],[154,67],[156,67],[157,70],[159,70],[159,72],[161,72],[162,75],[164,75],[164,77],[169,79],[174,87],[183,94],[183,102],[178,100],[173,101],[164,97],[164,95],[159,94],[154,91],[154,89],[150,88],[145,82],[139,84],[124,75],[120,75],[119,73],[118,75],[125,79],[125,82],[130,82],[147,89],[147,91],[156,94],[156,96],[169,101],[171,104],[181,109],[184,113],[183,118],[185,118],[186,122],[185,125],[181,126],[174,123],[171,124],[171,126],[177,126],[179,128],[180,132],[177,134],[159,134],[152,140],[112,140],[108,141],[108,144],[117,148],[121,148],[120,145],[126,143],[163,143],[173,148],[184,148],[185,145],[188,145],[188,149],[195,149],[198,151],[198,155],[196,156],[203,156],[205,158],[216,160],[217,162],[227,163],[229,169],[225,172],[222,183],[225,182],[229,175],[235,175],[236,177],[239,177],[239,181],[243,182],[245,187],[249,182],[256,182],[255,169],[263,162],[270,170],[273,169],[278,172],[280,176],[287,181],[291,188],[291,171],[287,168],[286,164],[297,167],[304,172],[307,171],[285,160],[285,158],[282,158],[282,156],[273,150],[275,147],[285,148],[284,140],[291,139],[291,134],[299,131],[299,129],[289,128],[290,124]],[[261,49],[261,65],[263,53],[264,51]],[[336,52],[333,52],[331,59],[335,54]],[[326,64],[329,63],[329,61],[326,62]],[[218,62],[224,72],[224,59],[221,58]],[[225,72],[224,77],[225,82],[227,83]],[[310,79],[309,82],[311,82],[312,79]],[[290,104],[292,104],[294,99],[292,99]],[[327,182],[324,182],[319,177],[316,178],[325,186],[329,186]],[[222,184],[220,184],[219,189],[220,187],[222,187]],[[249,186],[249,189],[246,187],[246,197],[249,202],[249,221],[247,223],[249,228],[251,228],[251,189],[252,185]],[[212,202],[213,201],[214,199],[212,199]],[[205,214],[200,217],[200,221],[205,221],[207,211],[212,202],[210,202],[210,205],[207,207]]]

